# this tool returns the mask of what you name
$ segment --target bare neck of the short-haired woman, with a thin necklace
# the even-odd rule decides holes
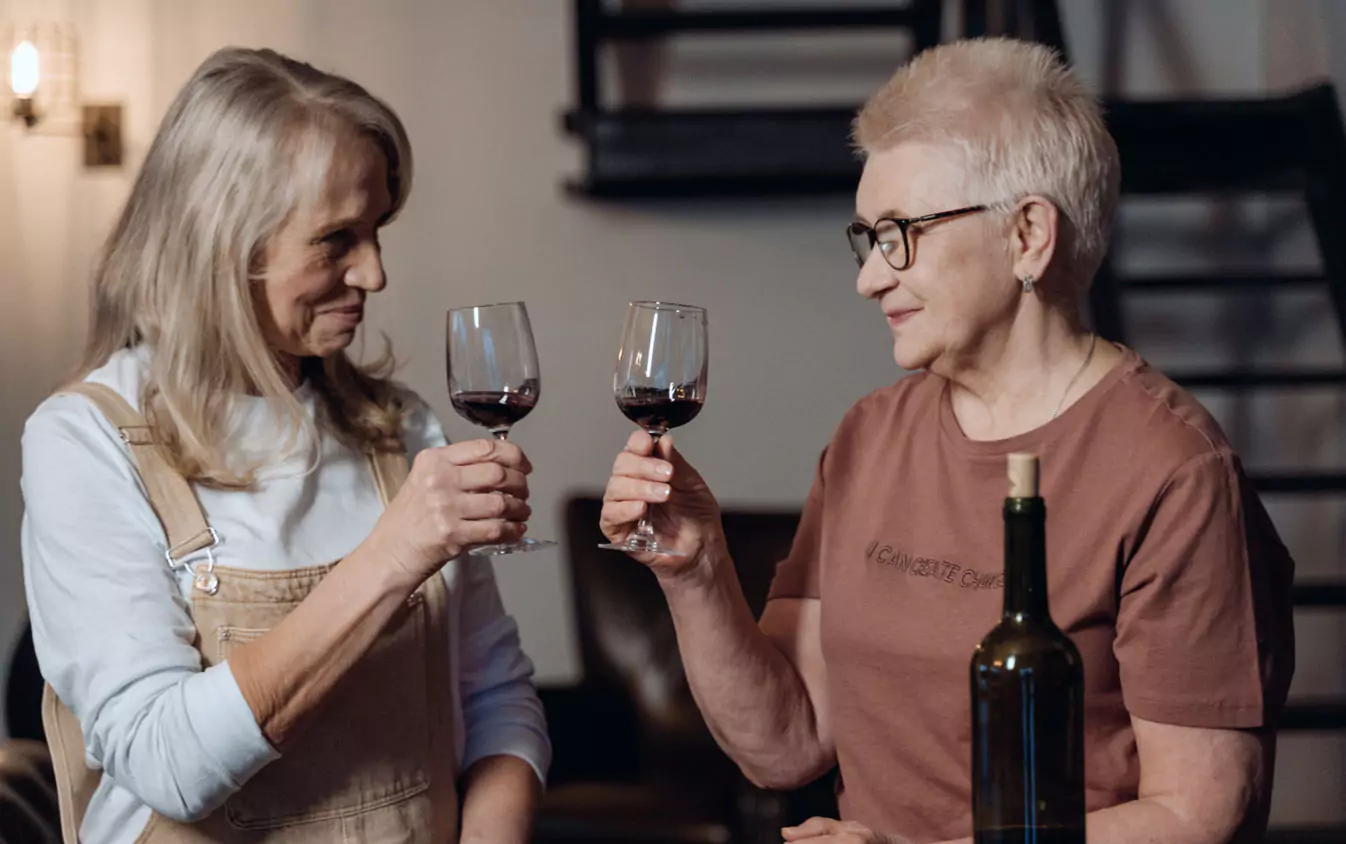
[[[1046,424],[1058,404],[1063,411],[1088,392],[1096,378],[1081,365],[1090,342],[1093,335],[1073,314],[1023,296],[1012,322],[931,370],[952,382],[953,412],[964,433],[975,440],[1007,439]],[[1101,357],[1094,354],[1089,370],[1097,372],[1093,363]]]

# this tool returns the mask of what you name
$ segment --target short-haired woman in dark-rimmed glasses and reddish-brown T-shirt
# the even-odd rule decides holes
[[[1035,452],[1090,844],[1260,840],[1294,565],[1206,411],[1082,323],[1119,184],[1098,106],[1049,48],[973,40],[900,69],[855,131],[856,288],[918,372],[841,420],[760,621],[668,437],[633,435],[607,487],[614,541],[653,509],[692,552],[638,559],[712,732],[760,785],[839,766],[841,820],[790,841],[966,840],[968,665],[1001,614],[1005,458]]]

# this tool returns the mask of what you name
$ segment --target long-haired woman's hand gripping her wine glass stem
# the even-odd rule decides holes
[[[516,542],[528,529],[532,463],[509,440],[428,448],[374,525],[367,544],[420,583],[476,545]]]

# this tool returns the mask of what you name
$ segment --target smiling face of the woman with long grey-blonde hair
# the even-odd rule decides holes
[[[384,153],[358,136],[338,140],[322,190],[265,248],[258,316],[288,369],[350,346],[365,297],[386,284],[378,229],[392,209]]]

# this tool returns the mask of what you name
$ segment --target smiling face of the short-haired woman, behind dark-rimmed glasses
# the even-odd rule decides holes
[[[968,197],[962,183],[946,148],[899,143],[865,162],[856,219],[874,225],[965,207],[979,198]],[[856,291],[879,303],[903,369],[945,372],[942,363],[975,355],[989,332],[1014,320],[1019,284],[999,219],[980,211],[911,226],[911,267],[895,271],[875,249],[860,268]]]

